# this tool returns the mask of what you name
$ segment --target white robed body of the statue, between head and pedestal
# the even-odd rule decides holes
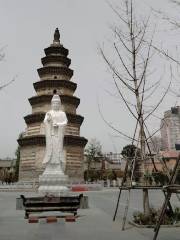
[[[44,118],[46,134],[46,153],[43,164],[60,165],[62,170],[65,168],[63,155],[63,140],[67,117],[63,111],[50,110]]]

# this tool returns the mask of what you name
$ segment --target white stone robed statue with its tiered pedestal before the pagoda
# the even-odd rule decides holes
[[[67,192],[68,177],[64,174],[66,160],[63,152],[63,140],[67,117],[61,111],[59,95],[51,100],[51,110],[44,118],[46,152],[43,159],[45,171],[39,177],[39,192],[45,195],[62,195]]]

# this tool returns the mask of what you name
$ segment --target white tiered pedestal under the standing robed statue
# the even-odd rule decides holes
[[[47,196],[67,196],[69,192],[67,183],[68,176],[63,173],[60,165],[49,164],[39,177],[38,192]]]

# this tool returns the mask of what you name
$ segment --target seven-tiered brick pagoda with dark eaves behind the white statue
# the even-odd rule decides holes
[[[80,127],[84,120],[76,114],[80,99],[74,96],[77,84],[70,81],[73,70],[69,68],[71,59],[68,49],[60,43],[60,33],[56,28],[53,43],[44,49],[41,59],[43,67],[37,70],[40,80],[35,82],[36,96],[29,98],[32,113],[25,116],[25,132],[18,139],[20,146],[19,180],[37,180],[43,172],[45,154],[45,129],[43,120],[50,110],[53,92],[59,94],[62,110],[66,112],[68,124],[64,137],[66,174],[71,180],[83,178],[84,147],[87,140],[80,136]]]

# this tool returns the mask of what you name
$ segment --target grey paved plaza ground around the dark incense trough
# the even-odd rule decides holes
[[[16,210],[16,197],[22,193],[0,192],[0,240],[151,240],[152,229],[138,229],[127,224],[126,230],[121,231],[123,210],[126,193],[123,193],[117,220],[112,221],[118,190],[107,189],[97,192],[87,192],[89,209],[79,210],[79,218],[75,223],[34,223],[29,224],[24,219],[24,211]],[[35,195],[24,193],[26,196]],[[151,204],[161,206],[163,195],[150,192]],[[174,196],[172,202],[179,206]],[[132,191],[130,216],[134,211],[141,210],[142,193]],[[158,239],[179,240],[180,228],[161,228]]]

